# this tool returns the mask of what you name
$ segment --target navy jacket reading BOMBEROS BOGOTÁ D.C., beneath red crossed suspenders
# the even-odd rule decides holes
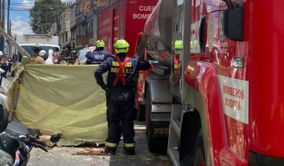
[[[126,58],[125,55],[119,56],[121,63],[123,63],[124,59]],[[150,63],[148,61],[145,61],[144,59],[136,59],[136,58],[129,58],[127,63],[124,66],[124,77],[126,81],[126,85],[123,85],[121,76],[116,84],[116,86],[113,86],[113,82],[116,78],[116,75],[119,72],[119,64],[117,62],[117,59],[115,56],[111,56],[106,61],[104,61],[97,70],[95,71],[94,75],[97,80],[97,84],[101,86],[102,89],[106,88],[133,88],[134,81],[133,78],[136,74],[136,71],[139,70],[148,70],[150,68]],[[106,73],[108,71],[108,85],[104,83],[102,74]]]

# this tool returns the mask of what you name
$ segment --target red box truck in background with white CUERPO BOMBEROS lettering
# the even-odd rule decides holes
[[[97,38],[103,40],[105,49],[114,54],[113,44],[125,39],[130,45],[127,56],[135,54],[137,34],[155,8],[157,0],[117,0],[98,12]],[[133,35],[135,34],[135,35]]]

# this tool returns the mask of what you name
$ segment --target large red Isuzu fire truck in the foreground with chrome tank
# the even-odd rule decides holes
[[[284,165],[283,4],[158,2],[138,48],[165,67],[140,79],[150,151],[168,123],[174,165]]]

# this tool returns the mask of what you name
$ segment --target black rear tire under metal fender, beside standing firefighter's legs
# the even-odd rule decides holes
[[[147,136],[147,145],[151,153],[166,153],[168,146],[168,137],[153,137],[150,133],[153,130],[153,122],[150,119],[150,93],[149,87],[146,90],[146,136]]]

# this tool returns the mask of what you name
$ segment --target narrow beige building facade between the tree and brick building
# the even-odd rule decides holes
[[[71,50],[71,33],[70,33],[70,9],[64,10],[59,18],[60,33],[59,33],[59,47],[65,56],[69,56]]]

